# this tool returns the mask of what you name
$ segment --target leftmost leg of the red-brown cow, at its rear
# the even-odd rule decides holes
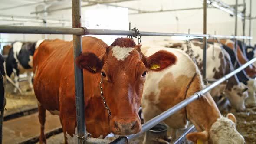
[[[42,105],[38,105],[38,118],[40,122],[40,137],[39,137],[39,143],[40,144],[46,144],[46,137],[44,134],[44,124],[45,124],[45,118],[46,118],[46,109],[43,108]]]

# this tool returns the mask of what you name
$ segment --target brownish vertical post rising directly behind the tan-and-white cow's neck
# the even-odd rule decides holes
[[[207,0],[203,0],[203,34],[207,33]],[[206,79],[207,37],[203,38],[203,79]]]

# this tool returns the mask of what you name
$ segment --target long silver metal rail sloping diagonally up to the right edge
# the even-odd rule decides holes
[[[174,105],[174,107],[168,109],[167,111],[164,111],[160,115],[152,118],[151,120],[147,121],[145,124],[142,125],[142,130],[141,132],[137,134],[132,134],[128,135],[127,138],[128,140],[133,139],[135,137],[138,137],[140,134],[144,133],[145,131],[148,131],[150,128],[154,127],[161,121],[164,121],[166,118],[170,117],[173,115],[175,112],[181,110],[182,108],[186,107],[188,104],[193,102],[194,100],[202,97],[206,92],[210,91],[212,88],[216,87],[217,85],[221,84],[222,82],[226,81],[229,79],[231,76],[235,75],[236,73],[240,72],[250,64],[256,61],[256,58],[253,58],[249,62],[246,62],[244,65],[240,66],[238,69],[235,69],[233,72],[230,72],[229,74],[223,76],[220,78],[218,81],[214,82],[213,84],[207,86],[206,88],[203,88],[203,90],[196,92],[194,95],[190,96],[189,98],[185,99],[184,101],[181,101],[177,105]]]

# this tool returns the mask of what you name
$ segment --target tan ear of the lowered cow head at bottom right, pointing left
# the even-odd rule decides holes
[[[208,140],[208,134],[206,131],[203,132],[193,132],[187,134],[187,139],[193,141],[196,144],[205,144]]]

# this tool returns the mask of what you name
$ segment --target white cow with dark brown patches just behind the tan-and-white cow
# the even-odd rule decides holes
[[[185,41],[158,41],[157,45],[178,48],[184,52],[188,52],[187,43]],[[203,72],[203,43],[198,41],[193,41],[191,43],[191,49],[194,52],[194,57],[197,62],[197,66],[200,71]],[[214,49],[213,49],[214,48]],[[233,71],[233,66],[230,61],[228,53],[223,50],[218,45],[208,44],[207,47],[207,67],[206,67],[206,78],[207,79],[220,79],[224,75]],[[216,86],[210,91],[213,97],[220,96],[225,92],[226,97],[229,99],[230,104],[236,110],[244,110],[244,101],[248,97],[246,92],[247,87],[242,82],[239,82],[236,75],[232,76],[228,82],[223,82],[222,84]]]

